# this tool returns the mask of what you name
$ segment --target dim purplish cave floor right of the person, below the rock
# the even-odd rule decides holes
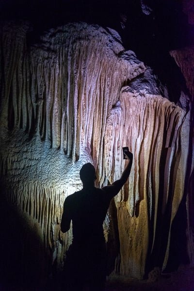
[[[106,291],[194,291],[194,268],[181,268],[149,280],[112,275]]]

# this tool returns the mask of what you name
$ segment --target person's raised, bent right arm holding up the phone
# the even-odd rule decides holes
[[[105,186],[102,189],[108,192],[112,197],[119,193],[125,182],[127,182],[127,179],[130,175],[130,170],[133,162],[133,154],[131,152],[126,152],[125,156],[127,157],[128,164],[125,170],[123,171],[123,174],[120,179],[113,182],[110,186]]]

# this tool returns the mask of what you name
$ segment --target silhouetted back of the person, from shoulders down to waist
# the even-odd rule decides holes
[[[103,222],[110,204],[105,190],[85,188],[67,197],[71,208],[73,243],[104,241]]]

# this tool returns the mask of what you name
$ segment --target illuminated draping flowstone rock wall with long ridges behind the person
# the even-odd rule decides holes
[[[63,203],[81,189],[81,165],[93,162],[98,185],[106,185],[121,176],[122,146],[129,146],[129,183],[104,224],[110,271],[142,278],[149,260],[164,268],[184,189],[187,112],[161,96],[151,70],[113,30],[68,24],[31,48],[27,31],[9,23],[2,32],[0,166],[8,203],[29,217],[49,263],[60,266],[72,240],[71,230],[60,231]]]

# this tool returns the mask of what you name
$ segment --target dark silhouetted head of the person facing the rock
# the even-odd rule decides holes
[[[96,170],[90,162],[81,167],[80,178],[83,184],[93,184],[96,180]]]

